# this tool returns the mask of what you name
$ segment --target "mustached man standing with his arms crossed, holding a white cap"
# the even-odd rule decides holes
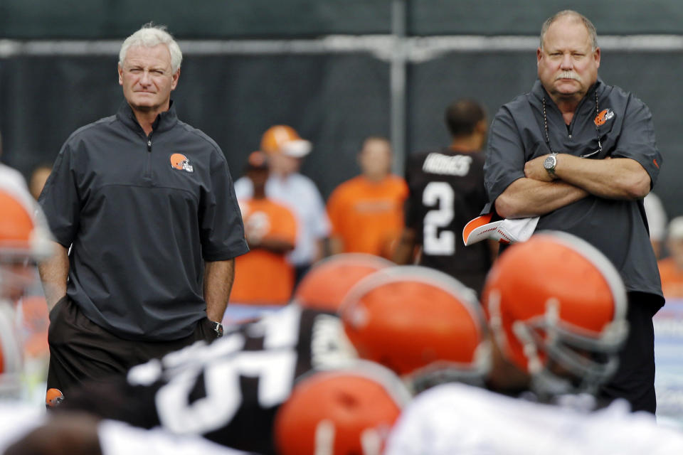
[[[504,218],[540,215],[536,230],[571,232],[613,262],[630,331],[602,395],[654,413],[652,316],[664,299],[642,206],[662,164],[652,114],[598,78],[595,27],[576,11],[544,23],[536,55],[539,80],[499,109],[489,132],[489,200]]]

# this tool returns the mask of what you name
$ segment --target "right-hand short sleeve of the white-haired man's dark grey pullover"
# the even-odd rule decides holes
[[[211,185],[201,196],[198,213],[201,254],[206,261],[232,259],[249,251],[228,163],[216,155],[212,154]]]

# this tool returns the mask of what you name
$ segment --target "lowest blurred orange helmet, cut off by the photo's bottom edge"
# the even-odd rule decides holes
[[[275,416],[277,454],[381,454],[408,392],[385,368],[359,365],[297,382]]]

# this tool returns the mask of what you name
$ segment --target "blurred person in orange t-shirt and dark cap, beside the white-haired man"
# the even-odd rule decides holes
[[[265,197],[266,160],[260,151],[248,159],[246,175],[253,182],[254,194],[239,204],[250,251],[235,258],[230,297],[235,304],[285,305],[294,289],[294,269],[285,255],[294,249],[297,222],[289,208]]]

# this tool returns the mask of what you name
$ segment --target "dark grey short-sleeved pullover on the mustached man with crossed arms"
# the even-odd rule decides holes
[[[490,201],[517,178],[524,177],[526,161],[550,153],[544,128],[544,97],[553,151],[585,159],[634,159],[655,185],[662,156],[655,144],[652,114],[645,103],[598,79],[567,127],[560,110],[536,80],[531,92],[501,107],[492,122],[484,168]],[[603,150],[594,153],[599,148],[598,134]],[[662,296],[642,200],[591,195],[541,216],[536,230],[561,230],[583,238],[613,262],[628,291]],[[663,304],[663,297],[661,301]]]

